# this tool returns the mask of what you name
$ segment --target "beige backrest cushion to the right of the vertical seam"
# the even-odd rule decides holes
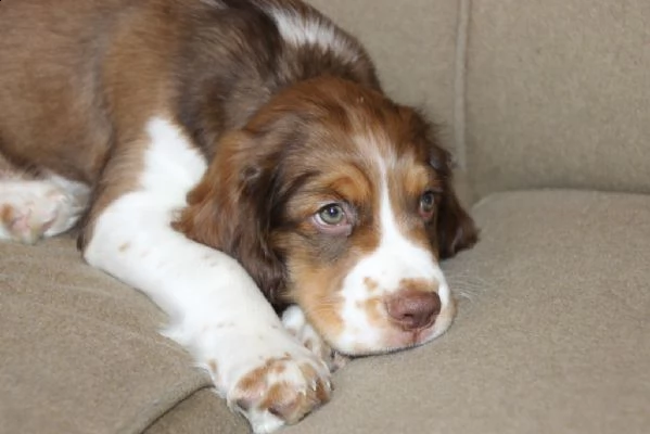
[[[472,2],[468,163],[479,195],[650,192],[650,2]]]

